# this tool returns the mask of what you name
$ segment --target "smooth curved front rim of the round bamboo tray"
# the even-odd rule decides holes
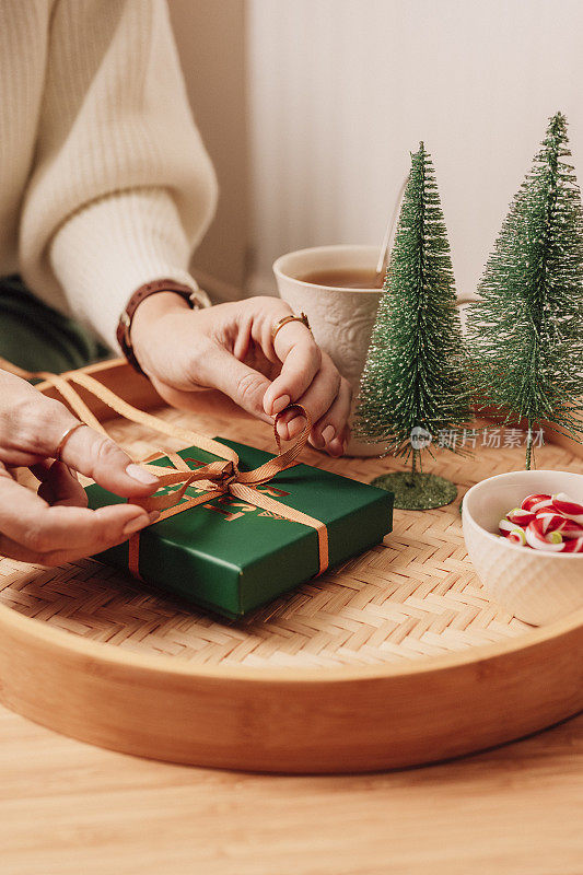
[[[84,370],[101,371],[142,409],[162,402],[119,365]],[[109,418],[103,404],[94,412]],[[582,645],[580,609],[515,638],[401,663],[198,664],[86,639],[0,603],[0,700],[133,756],[271,773],[370,772],[475,752],[579,713]]]

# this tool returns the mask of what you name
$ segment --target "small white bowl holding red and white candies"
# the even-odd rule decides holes
[[[464,538],[485,590],[515,617],[535,626],[583,607],[583,553],[550,553],[509,544],[498,524],[526,495],[565,492],[583,503],[583,475],[511,471],[482,480],[464,498]]]

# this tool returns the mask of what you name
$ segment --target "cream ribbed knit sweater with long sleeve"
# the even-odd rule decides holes
[[[196,288],[215,200],[165,0],[0,0],[0,276],[117,349],[139,285]]]

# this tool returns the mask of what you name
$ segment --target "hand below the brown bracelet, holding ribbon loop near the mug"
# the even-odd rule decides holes
[[[340,456],[348,440],[351,389],[331,359],[300,322],[273,325],[291,308],[278,298],[250,298],[191,311],[172,292],[147,298],[136,310],[131,342],[156,390],[188,408],[188,394],[217,388],[266,422],[290,402],[312,415],[311,443]],[[278,424],[283,439],[300,433],[302,418]]]

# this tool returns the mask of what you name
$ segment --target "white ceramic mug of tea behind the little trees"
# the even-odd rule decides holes
[[[316,343],[352,386],[354,401],[383,290],[318,285],[304,282],[301,277],[316,270],[350,269],[374,273],[377,259],[378,246],[338,244],[298,249],[273,262],[280,296],[294,313],[307,315]],[[471,296],[459,298],[458,303],[469,300]],[[347,455],[380,456],[385,450],[386,444],[352,439]]]

